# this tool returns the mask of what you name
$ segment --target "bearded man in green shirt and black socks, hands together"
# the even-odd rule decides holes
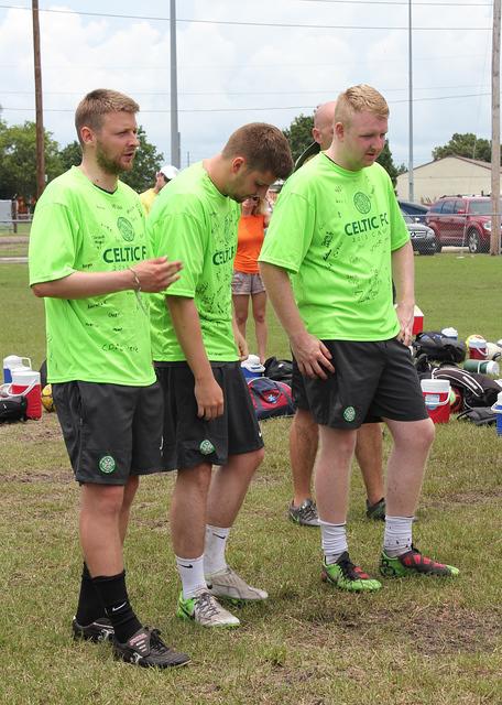
[[[122,544],[139,476],[162,468],[162,394],[148,302],[181,263],[152,258],[138,195],[118,180],[139,147],[138,104],[98,89],[79,104],[81,164],[48,184],[30,236],[30,285],[45,299],[47,378],[80,485],[84,571],[73,633],[111,639],[140,666],[188,662],[142,626],[129,601]]]

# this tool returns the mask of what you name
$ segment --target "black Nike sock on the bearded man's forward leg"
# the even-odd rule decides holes
[[[116,639],[124,643],[142,627],[129,601],[126,571],[119,575],[99,575],[92,578],[92,584],[113,626]]]

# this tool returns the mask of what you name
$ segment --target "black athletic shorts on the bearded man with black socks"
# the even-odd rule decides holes
[[[75,479],[126,485],[162,469],[162,391],[150,387],[59,382],[52,386]]]

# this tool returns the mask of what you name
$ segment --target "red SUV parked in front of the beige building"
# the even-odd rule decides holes
[[[436,235],[436,252],[445,245],[467,246],[469,252],[488,252],[491,234],[491,198],[444,196],[425,217]]]

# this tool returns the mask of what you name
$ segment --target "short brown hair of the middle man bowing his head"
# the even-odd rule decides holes
[[[223,147],[225,159],[243,156],[250,170],[271,172],[287,178],[293,171],[290,144],[280,129],[265,122],[250,122],[236,130]]]

